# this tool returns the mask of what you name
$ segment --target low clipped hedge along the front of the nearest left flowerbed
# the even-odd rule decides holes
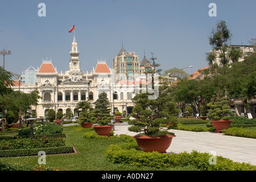
[[[66,154],[73,153],[73,147],[63,146],[63,147],[49,147],[49,148],[29,148],[20,150],[2,150],[0,151],[0,157],[14,157],[14,156],[31,156],[38,155],[39,151],[46,152],[49,154]]]

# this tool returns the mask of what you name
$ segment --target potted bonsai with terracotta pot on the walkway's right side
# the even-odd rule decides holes
[[[220,92],[216,92],[213,95],[210,102],[207,104],[210,109],[208,109],[208,118],[215,127],[216,133],[220,133],[224,129],[228,129],[230,123],[233,121],[229,118],[232,112],[229,110],[230,106],[228,100]]]

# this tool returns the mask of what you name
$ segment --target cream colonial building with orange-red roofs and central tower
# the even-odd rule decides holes
[[[118,57],[115,57],[115,60],[118,60],[116,64],[131,63],[133,64],[132,69],[127,68],[129,65],[126,65],[126,69],[117,69],[116,66],[114,66],[114,68],[119,71],[131,70],[132,73],[137,73],[137,70],[142,71],[138,56],[123,52],[126,51],[124,49],[121,50],[118,53]],[[78,102],[85,101],[89,98],[90,102],[93,104],[101,92],[107,93],[112,113],[117,109],[121,112],[125,110],[128,114],[131,113],[134,106],[131,98],[135,96],[135,88],[142,81],[116,81],[115,73],[119,72],[115,72],[115,69],[110,69],[106,61],[102,60],[97,61],[95,69],[93,68],[93,71],[90,73],[81,71],[79,51],[77,49],[75,36],[73,37],[69,54],[71,55],[71,59],[69,60],[68,71],[64,73],[61,71],[59,73],[53,65],[54,61],[43,60],[35,73],[37,81],[34,83],[22,82],[22,85],[20,85],[20,91],[24,93],[30,93],[33,90],[39,91],[39,105],[36,107],[32,106],[32,111],[36,112],[38,117],[45,117],[49,109],[53,109],[56,112],[61,110],[65,113],[68,108],[71,109],[76,116],[79,114],[76,110]],[[149,62],[144,61],[143,63],[148,64]],[[138,69],[136,67],[138,67]],[[14,90],[18,89],[19,86],[15,85]]]

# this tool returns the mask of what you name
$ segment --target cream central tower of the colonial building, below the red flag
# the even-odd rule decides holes
[[[80,73],[79,51],[77,50],[76,37],[73,37],[71,51],[69,52],[71,59],[69,60],[69,73]]]

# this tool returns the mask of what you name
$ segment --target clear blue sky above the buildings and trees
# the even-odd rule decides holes
[[[46,17],[39,17],[39,3],[46,4]],[[209,3],[216,3],[217,16],[210,17]],[[30,65],[40,67],[52,59],[58,72],[69,69],[69,51],[75,23],[81,70],[92,71],[97,60],[113,58],[123,47],[143,59],[154,52],[163,71],[184,69],[191,74],[208,65],[208,37],[219,20],[232,32],[230,44],[248,44],[256,38],[255,0],[1,0],[0,50],[11,50],[5,69],[21,73]],[[0,56],[3,65],[3,56]]]

